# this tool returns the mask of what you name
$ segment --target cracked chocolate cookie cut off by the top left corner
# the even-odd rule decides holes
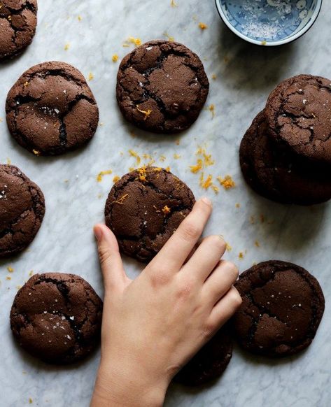
[[[0,61],[30,45],[37,24],[36,0],[0,0]]]

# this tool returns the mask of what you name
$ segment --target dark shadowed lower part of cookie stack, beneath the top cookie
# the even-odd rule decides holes
[[[267,199],[297,205],[331,199],[328,173],[274,143],[265,111],[255,117],[241,141],[240,164],[248,185]]]

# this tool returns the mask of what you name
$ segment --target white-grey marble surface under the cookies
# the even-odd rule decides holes
[[[197,146],[206,143],[216,163],[207,173],[229,173],[234,190],[207,194],[215,206],[206,233],[223,234],[232,245],[228,259],[244,271],[253,262],[277,258],[306,267],[320,281],[326,297],[325,315],[314,343],[302,355],[279,362],[251,357],[235,348],[230,366],[212,387],[197,391],[171,387],[167,406],[231,407],[328,407],[331,400],[331,203],[314,208],[281,206],[265,201],[248,190],[238,164],[241,136],[255,113],[263,107],[269,91],[280,80],[297,73],[331,77],[328,1],[315,26],[296,43],[283,48],[255,48],[236,38],[220,21],[213,0],[40,0],[38,31],[33,44],[21,57],[0,66],[0,161],[20,166],[45,192],[46,215],[29,251],[0,262],[0,406],[24,406],[31,398],[36,406],[88,406],[99,354],[79,366],[55,368],[36,362],[13,343],[8,315],[17,285],[29,271],[78,273],[102,295],[92,225],[103,221],[106,195],[113,175],[134,166],[132,148],[167,159],[190,185],[196,197],[204,194],[199,176],[188,169],[195,162]],[[78,15],[81,20],[78,20]],[[196,16],[196,17],[195,17]],[[201,31],[198,22],[209,25]],[[115,75],[120,58],[129,52],[122,43],[129,37],[142,41],[164,38],[164,32],[192,48],[203,59],[211,81],[207,104],[215,105],[215,117],[204,110],[196,124],[180,136],[154,136],[135,131],[123,122],[115,103]],[[69,49],[64,50],[66,43]],[[34,157],[9,136],[4,103],[20,74],[46,60],[69,62],[85,76],[93,73],[90,86],[100,108],[103,125],[94,140],[79,152],[57,158]],[[217,76],[211,79],[212,74]],[[124,155],[121,156],[120,152]],[[174,159],[174,153],[181,159]],[[97,183],[99,171],[112,169]],[[69,182],[64,182],[69,180]],[[101,197],[100,195],[101,194]],[[99,196],[99,197],[98,197]],[[240,203],[240,208],[235,204]],[[265,222],[261,222],[264,215]],[[255,223],[250,217],[255,217]],[[260,248],[255,246],[260,242]],[[244,259],[238,258],[245,252]],[[134,275],[141,266],[126,260]],[[7,266],[14,272],[9,275]]]

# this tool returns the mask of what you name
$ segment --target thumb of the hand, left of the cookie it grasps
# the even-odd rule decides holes
[[[123,267],[115,235],[105,224],[94,226],[94,236],[97,238],[101,271],[104,276],[105,290],[122,291],[127,285],[127,275]]]

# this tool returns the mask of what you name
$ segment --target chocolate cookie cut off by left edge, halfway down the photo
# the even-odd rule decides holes
[[[17,167],[0,164],[0,257],[27,248],[44,214],[45,199],[38,185]]]

